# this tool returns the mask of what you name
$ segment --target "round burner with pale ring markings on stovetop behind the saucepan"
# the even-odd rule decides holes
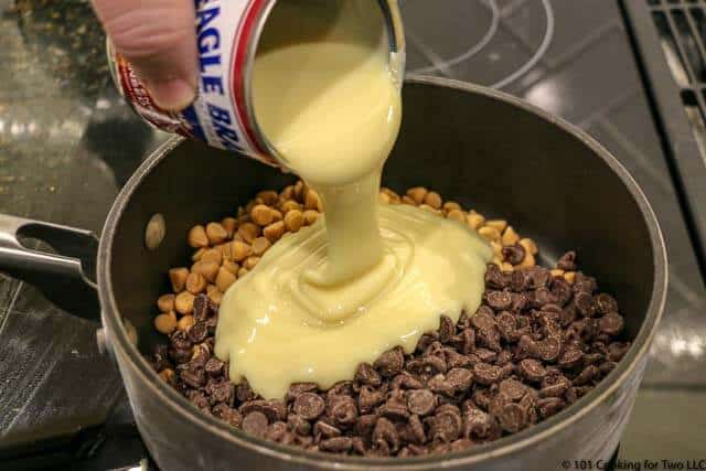
[[[549,0],[516,1],[504,8],[500,8],[499,2],[448,0],[435,12],[429,11],[425,0],[405,0],[402,9],[409,73],[442,75],[504,88],[537,66],[554,36],[554,10]],[[542,38],[521,36],[504,24],[523,12],[525,17],[520,21],[544,24],[539,29]],[[539,14],[542,18],[533,18]]]

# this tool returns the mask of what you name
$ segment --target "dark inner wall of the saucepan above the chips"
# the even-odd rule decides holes
[[[650,231],[628,186],[589,144],[545,118],[479,93],[410,83],[404,106],[385,185],[396,191],[424,185],[507,220],[537,242],[542,263],[576,249],[582,270],[617,298],[625,335],[638,334],[655,277]],[[109,267],[118,310],[136,327],[142,352],[164,342],[152,324],[156,300],[170,292],[167,271],[190,265],[189,228],[234,215],[257,191],[295,180],[192,141],[142,178],[118,221]],[[167,235],[148,250],[145,227],[156,213],[164,216]]]

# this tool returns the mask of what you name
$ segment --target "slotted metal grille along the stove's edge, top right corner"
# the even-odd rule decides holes
[[[706,0],[619,3],[706,275]]]

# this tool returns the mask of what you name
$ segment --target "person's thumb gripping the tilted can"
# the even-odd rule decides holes
[[[93,0],[117,52],[145,82],[154,101],[181,110],[196,97],[197,54],[193,0]]]

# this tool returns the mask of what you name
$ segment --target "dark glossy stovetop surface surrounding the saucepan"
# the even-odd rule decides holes
[[[670,289],[620,459],[703,458],[704,279],[617,1],[402,6],[410,73],[496,87],[563,116],[648,194],[666,238]],[[165,139],[113,89],[103,44],[87,0],[0,0],[0,213],[99,233],[120,186]],[[147,457],[95,328],[0,275],[0,468],[10,453],[36,469],[77,470]]]

